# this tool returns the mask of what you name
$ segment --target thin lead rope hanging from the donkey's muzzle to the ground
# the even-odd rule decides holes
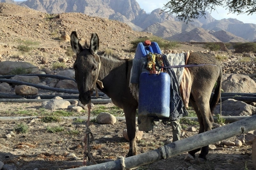
[[[84,166],[86,166],[86,160],[88,160],[89,162],[92,162],[93,164],[97,164],[97,162],[93,160],[91,151],[90,151],[90,136],[92,137],[92,140],[94,140],[91,129],[89,128],[90,113],[92,109],[91,102],[87,104],[87,107],[88,107],[88,120],[87,120],[87,125],[85,130],[85,136],[84,136],[84,161],[83,161]]]

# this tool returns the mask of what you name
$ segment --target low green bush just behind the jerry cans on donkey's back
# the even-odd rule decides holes
[[[131,50],[135,51],[138,43],[144,42],[147,39],[150,40],[151,42],[157,42],[159,47],[164,50],[170,49],[170,48],[175,48],[175,47],[179,46],[179,43],[177,41],[168,41],[166,39],[159,38],[157,36],[151,36],[151,37],[142,37],[142,38],[138,38],[138,39],[131,41],[131,45],[132,45]]]

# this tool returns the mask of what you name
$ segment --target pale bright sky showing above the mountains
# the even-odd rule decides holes
[[[21,0],[15,0],[21,1]],[[136,0],[140,4],[140,8],[145,10],[147,13],[155,10],[156,8],[163,8],[164,4],[168,3],[168,0]],[[218,7],[215,11],[212,11],[211,16],[216,20],[221,20],[223,18],[236,18],[244,23],[256,24],[256,13],[253,15],[237,15],[233,13],[228,14],[228,10],[225,8]]]

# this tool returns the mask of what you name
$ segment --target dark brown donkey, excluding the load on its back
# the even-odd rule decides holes
[[[132,59],[118,60],[109,56],[99,56],[99,37],[93,33],[90,39],[90,47],[83,48],[79,43],[76,31],[70,36],[70,44],[77,55],[74,69],[76,71],[76,81],[79,90],[79,101],[82,104],[88,104],[91,101],[91,95],[95,84],[100,89],[97,81],[102,81],[104,88],[101,89],[108,95],[113,104],[122,108],[125,113],[127,133],[129,138],[129,152],[127,157],[137,154],[136,150],[136,109],[138,101],[134,99],[129,89],[129,80],[131,76]],[[212,64],[211,66],[189,67],[191,73],[191,94],[189,102],[195,109],[200,124],[199,133],[209,131],[212,128],[212,111],[220,99],[221,89],[221,67],[218,61],[203,53],[191,53],[188,64]],[[214,96],[211,103],[211,92],[214,85]],[[102,87],[101,87],[102,88]],[[198,148],[189,152],[195,157],[195,153],[200,151],[199,157],[206,160],[209,152],[208,146]]]

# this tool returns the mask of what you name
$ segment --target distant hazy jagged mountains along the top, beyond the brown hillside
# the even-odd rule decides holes
[[[13,0],[0,0],[0,2],[15,3]],[[202,27],[207,32],[225,31],[225,33],[221,33],[221,39],[219,39],[220,36],[215,37],[215,34],[212,34],[215,37],[212,38],[212,41],[214,39],[217,39],[217,41],[225,39],[225,42],[256,41],[256,24],[244,24],[234,18],[216,20],[207,13],[205,17],[198,18],[187,25],[184,22],[179,22],[177,18],[168,17],[166,13],[160,15],[161,9],[156,9],[147,14],[140,8],[136,0],[28,0],[19,3],[19,5],[44,13],[77,12],[94,17],[118,20],[129,25],[134,31],[151,32],[156,36],[173,41],[191,41],[191,39],[193,41],[204,41],[204,38],[195,39],[195,37],[176,39],[180,37],[180,33],[187,34],[186,32],[195,29],[195,27]],[[180,24],[177,24],[177,22]],[[188,27],[188,29],[190,27],[190,29],[184,29],[184,27]],[[205,34],[205,31],[199,31],[198,33]]]

